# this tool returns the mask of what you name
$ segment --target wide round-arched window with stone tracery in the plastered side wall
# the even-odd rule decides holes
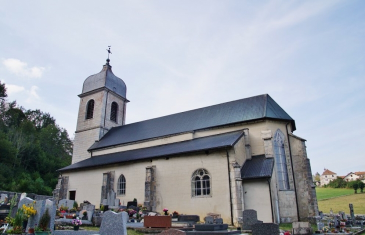
[[[198,169],[191,176],[191,196],[210,196],[210,175],[206,169]]]

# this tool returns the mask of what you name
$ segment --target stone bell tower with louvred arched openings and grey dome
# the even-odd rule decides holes
[[[110,59],[83,82],[73,144],[72,164],[91,157],[87,149],[111,127],[125,123],[126,86],[111,71]]]

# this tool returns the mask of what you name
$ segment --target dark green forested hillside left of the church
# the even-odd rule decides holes
[[[7,101],[0,82],[0,190],[51,195],[73,141],[49,113]]]

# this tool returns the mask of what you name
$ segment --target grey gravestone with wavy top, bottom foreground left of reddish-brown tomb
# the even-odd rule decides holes
[[[102,235],[126,235],[127,212],[115,213],[108,210],[104,212],[100,225],[99,234]]]

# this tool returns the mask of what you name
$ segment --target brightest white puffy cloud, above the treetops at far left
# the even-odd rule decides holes
[[[15,73],[18,76],[26,76],[29,78],[41,77],[45,70],[44,67],[29,67],[26,62],[15,58],[3,59],[2,63],[10,72]]]

